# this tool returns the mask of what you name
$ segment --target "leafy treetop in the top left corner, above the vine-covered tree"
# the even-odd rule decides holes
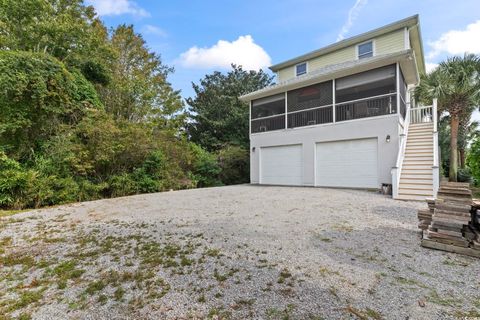
[[[82,0],[0,0],[0,49],[46,53],[106,84],[108,32]]]

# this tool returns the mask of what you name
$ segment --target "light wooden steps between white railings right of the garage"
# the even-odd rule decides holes
[[[433,131],[433,122],[410,124],[397,199],[425,200],[434,196]]]

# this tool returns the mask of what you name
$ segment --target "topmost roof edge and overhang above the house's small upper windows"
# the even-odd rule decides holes
[[[296,58],[275,64],[270,67],[270,70],[273,72],[277,72],[280,69],[290,67],[292,65],[298,64],[300,62],[304,62],[307,60],[311,60],[317,57],[320,57],[322,55],[325,55],[327,53],[337,51],[361,42],[364,42],[366,40],[372,39],[374,37],[378,37],[380,35],[402,29],[402,28],[411,28],[412,34],[411,34],[411,45],[413,50],[415,51],[416,57],[419,59],[419,71],[425,72],[425,61],[424,61],[424,56],[423,56],[423,44],[422,44],[422,38],[420,35],[420,20],[418,17],[418,14],[413,15],[411,17],[393,22],[391,24],[388,24],[386,26],[359,34],[357,36],[338,41],[334,44],[328,45],[326,47],[311,51],[309,53],[303,54],[301,56],[298,56]]]

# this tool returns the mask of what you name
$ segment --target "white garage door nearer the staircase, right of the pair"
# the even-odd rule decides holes
[[[316,185],[378,188],[377,139],[317,143]]]

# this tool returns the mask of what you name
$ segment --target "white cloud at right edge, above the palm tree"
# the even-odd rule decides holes
[[[480,53],[480,20],[467,25],[464,30],[450,30],[440,36],[437,41],[429,42],[432,51],[428,58],[432,59],[441,53],[451,55]]]

